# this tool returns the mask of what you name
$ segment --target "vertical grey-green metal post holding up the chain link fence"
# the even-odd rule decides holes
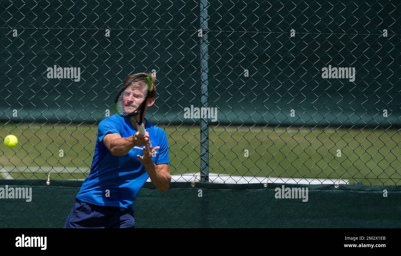
[[[201,0],[200,17],[201,25],[201,107],[208,105],[208,40],[207,40],[207,0]],[[201,182],[209,182],[209,119],[201,115]]]

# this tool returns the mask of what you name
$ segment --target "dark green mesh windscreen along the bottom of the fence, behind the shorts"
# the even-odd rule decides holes
[[[32,187],[32,202],[0,199],[0,228],[62,228],[81,181],[5,185]],[[308,202],[276,199],[282,185],[308,187]],[[136,228],[401,228],[399,202],[399,186],[171,183],[162,193],[146,183],[134,208]]]

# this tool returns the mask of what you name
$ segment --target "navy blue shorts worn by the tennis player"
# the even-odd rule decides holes
[[[64,228],[135,228],[134,211],[119,207],[97,206],[75,198]]]

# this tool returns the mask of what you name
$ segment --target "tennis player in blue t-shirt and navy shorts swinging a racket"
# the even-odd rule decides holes
[[[123,85],[140,74],[126,77]],[[156,95],[156,77],[146,75],[152,78],[152,88],[145,112]],[[64,228],[134,228],[133,204],[145,181],[150,177],[160,191],[167,191],[171,176],[166,133],[145,118],[142,121],[146,135],[139,133],[136,122],[117,114],[99,123],[91,171]]]

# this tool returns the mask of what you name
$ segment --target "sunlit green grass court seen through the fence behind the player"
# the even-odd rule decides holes
[[[43,170],[67,167],[52,179],[84,179],[91,166],[97,124],[3,124],[2,141],[18,137],[12,149],[0,146],[2,178],[47,179]],[[163,127],[160,126],[159,127]],[[200,168],[198,126],[163,127],[170,146],[170,173]],[[209,172],[237,176],[339,178],[372,185],[401,183],[401,134],[396,129],[223,127],[209,128]],[[59,157],[63,149],[64,157]],[[244,156],[244,150],[249,157]],[[341,157],[336,157],[341,149]],[[31,170],[29,170],[28,168]],[[35,169],[36,167],[36,169]],[[78,169],[79,168],[79,169]],[[11,173],[7,172],[11,170]],[[363,178],[366,179],[363,179]]]

